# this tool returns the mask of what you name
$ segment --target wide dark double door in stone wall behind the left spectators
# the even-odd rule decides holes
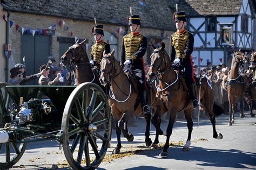
[[[46,65],[50,55],[50,36],[23,34],[21,36],[21,63],[25,56],[26,75],[39,73],[39,67]],[[38,79],[26,82],[26,85],[38,85]]]

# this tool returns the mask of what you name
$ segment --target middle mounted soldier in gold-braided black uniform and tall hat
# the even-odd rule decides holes
[[[129,17],[129,26],[131,33],[123,37],[123,47],[121,54],[121,62],[124,63],[124,70],[133,70],[138,80],[140,97],[142,98],[143,115],[150,114],[149,106],[146,105],[144,93],[146,90],[145,70],[143,55],[147,48],[147,39],[139,33],[140,18],[138,15]]]

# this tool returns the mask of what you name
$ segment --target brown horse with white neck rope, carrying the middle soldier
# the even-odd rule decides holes
[[[109,104],[111,107],[112,116],[116,122],[117,146],[113,150],[113,154],[119,154],[121,145],[120,134],[123,132],[124,137],[132,142],[133,134],[127,129],[127,121],[133,115],[142,116],[142,103],[138,101],[139,92],[136,84],[136,78],[127,75],[119,62],[114,58],[114,50],[111,54],[104,54],[100,62],[100,82],[103,86],[107,83],[110,84],[109,91]],[[156,89],[152,90],[152,100],[150,103],[155,102]],[[151,98],[151,97],[149,97]],[[138,103],[139,102],[139,103]],[[148,102],[149,103],[149,102]],[[137,105],[137,106],[135,106]],[[144,117],[146,119],[145,143],[146,146],[151,146],[152,140],[150,139],[150,116]]]

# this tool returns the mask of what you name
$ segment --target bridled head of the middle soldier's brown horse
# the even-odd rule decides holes
[[[114,62],[117,62],[117,60],[114,58],[114,49],[109,54],[105,54],[104,51],[102,61],[100,61],[100,70],[102,73],[99,77],[99,81],[103,86],[106,86],[107,81],[109,81],[116,72]]]

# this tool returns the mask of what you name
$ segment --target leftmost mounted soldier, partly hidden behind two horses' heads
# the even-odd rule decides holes
[[[103,25],[97,25],[95,18],[95,26],[92,27],[92,34],[95,38],[95,44],[92,45],[91,51],[91,65],[97,68],[97,71],[100,69],[100,61],[102,61],[103,52],[105,54],[110,53],[110,45],[107,42],[103,41],[104,30]]]

